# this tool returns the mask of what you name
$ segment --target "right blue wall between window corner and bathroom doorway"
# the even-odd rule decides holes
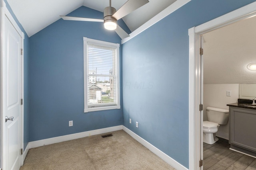
[[[192,0],[124,43],[123,125],[188,168],[188,29],[254,1]]]

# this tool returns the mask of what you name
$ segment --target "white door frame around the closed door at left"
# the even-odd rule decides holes
[[[10,22],[12,23],[12,25],[14,26],[14,28],[16,29],[16,31],[19,33],[20,37],[21,37],[21,48],[24,49],[24,33],[21,31],[20,27],[18,26],[18,24],[16,23],[16,21],[14,20],[14,18],[12,18],[12,15],[10,14],[10,12],[8,11],[6,4],[4,2],[4,0],[0,0],[0,168],[4,168],[5,166],[5,158],[4,158],[4,143],[3,141],[4,139],[4,113],[3,113],[3,86],[2,86],[2,82],[3,82],[3,70],[2,70],[2,59],[3,59],[3,54],[5,53],[4,48],[3,48],[3,35],[4,35],[4,27],[5,27],[5,23],[4,23],[4,18],[5,16],[10,20]],[[21,55],[21,98],[24,99],[24,50],[23,50],[23,55]],[[24,146],[24,100],[23,100],[23,105],[21,106],[21,129],[20,129],[20,133],[21,133],[21,149],[23,149]],[[23,149],[24,150],[24,149]],[[21,156],[21,165],[23,165],[24,162],[24,157]]]

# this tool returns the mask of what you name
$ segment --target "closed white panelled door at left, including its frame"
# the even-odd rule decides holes
[[[1,157],[0,168],[18,170],[23,150],[23,41],[12,15],[1,1]]]

